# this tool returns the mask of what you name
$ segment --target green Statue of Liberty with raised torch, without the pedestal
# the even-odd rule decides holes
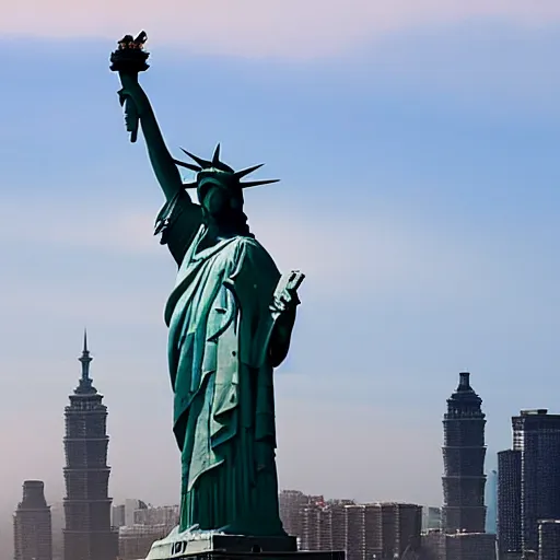
[[[138,81],[148,69],[145,34],[126,36],[112,56],[127,130],[141,129],[166,202],[155,234],[178,265],[166,307],[174,434],[182,456],[179,530],[285,535],[278,511],[273,369],[285,358],[303,275],[281,276],[250,233],[243,182],[220,159],[167,150]],[[177,167],[196,173],[183,183]],[[196,189],[198,205],[188,195]]]

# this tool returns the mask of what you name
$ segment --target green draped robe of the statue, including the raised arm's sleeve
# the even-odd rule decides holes
[[[162,209],[156,228],[179,265],[165,322],[182,451],[180,530],[283,535],[269,360],[280,272],[250,236],[199,249],[200,207],[183,194]]]

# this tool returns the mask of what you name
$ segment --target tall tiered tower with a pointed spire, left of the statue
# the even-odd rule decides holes
[[[84,334],[82,377],[66,407],[65,560],[115,560],[118,533],[110,526],[107,407],[92,384]]]

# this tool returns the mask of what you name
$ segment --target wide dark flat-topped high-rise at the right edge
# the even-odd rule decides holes
[[[521,452],[522,548],[536,553],[539,520],[560,518],[560,415],[522,410],[512,429],[513,448]]]

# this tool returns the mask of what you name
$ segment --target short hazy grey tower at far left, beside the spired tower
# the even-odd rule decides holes
[[[40,480],[23,483],[23,500],[13,516],[15,560],[52,560],[50,509]]]

